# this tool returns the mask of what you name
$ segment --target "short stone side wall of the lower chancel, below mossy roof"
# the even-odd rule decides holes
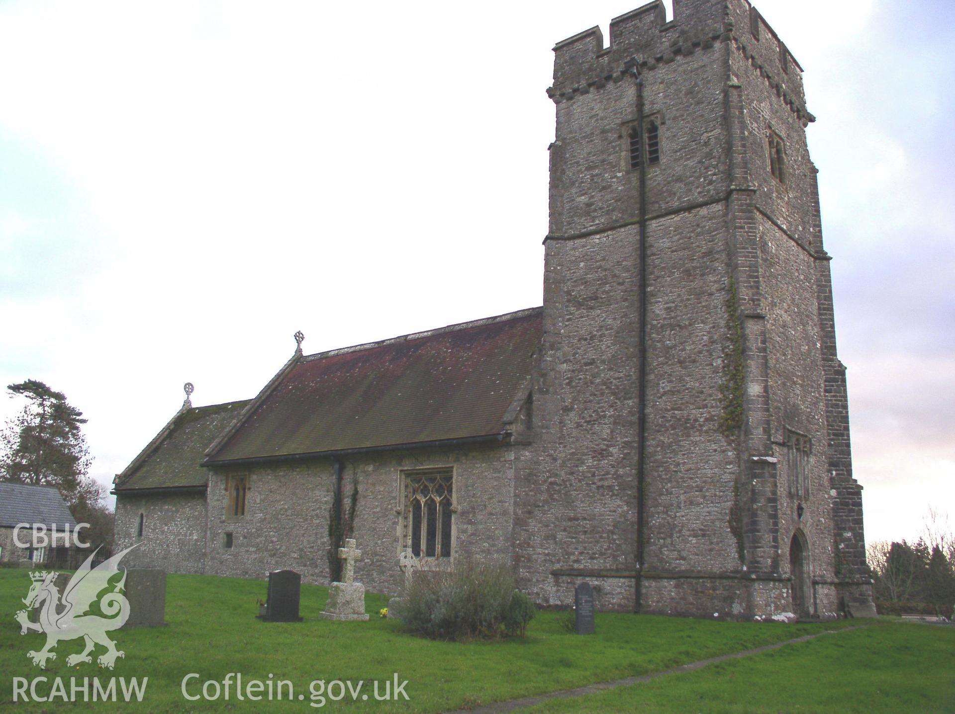
[[[142,537],[137,536],[139,514]],[[205,494],[117,494],[113,552],[139,543],[123,557],[129,568],[202,573],[205,561]]]

